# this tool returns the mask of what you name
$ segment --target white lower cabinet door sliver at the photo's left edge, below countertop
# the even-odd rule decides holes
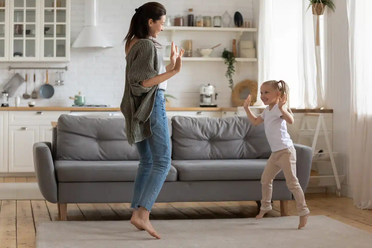
[[[0,172],[8,172],[8,112],[0,112]]]

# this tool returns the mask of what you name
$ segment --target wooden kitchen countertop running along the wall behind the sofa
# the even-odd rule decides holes
[[[253,107],[264,109],[264,107]],[[238,111],[236,107],[166,107],[167,111]],[[120,111],[119,107],[0,107],[0,111]],[[292,109],[293,113],[333,113],[332,109]]]

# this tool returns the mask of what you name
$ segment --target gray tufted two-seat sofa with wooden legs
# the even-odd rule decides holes
[[[172,161],[156,202],[259,201],[261,175],[270,156],[263,125],[247,117],[169,119]],[[302,189],[310,177],[312,150],[295,145]],[[129,203],[138,167],[135,146],[126,141],[124,119],[62,115],[53,141],[33,145],[42,195],[58,203],[66,220],[68,203]],[[282,216],[294,199],[280,172],[272,200]]]

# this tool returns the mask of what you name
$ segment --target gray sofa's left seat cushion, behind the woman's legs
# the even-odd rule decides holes
[[[71,161],[54,162],[58,182],[134,181],[139,161]],[[177,170],[170,167],[166,181],[177,181]]]

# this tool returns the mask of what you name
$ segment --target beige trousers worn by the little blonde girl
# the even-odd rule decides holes
[[[304,192],[296,177],[296,150],[294,146],[273,152],[267,161],[261,177],[261,210],[272,210],[270,203],[273,193],[273,180],[281,170],[283,170],[288,189],[295,197],[298,215],[307,215],[310,211],[306,206]]]

